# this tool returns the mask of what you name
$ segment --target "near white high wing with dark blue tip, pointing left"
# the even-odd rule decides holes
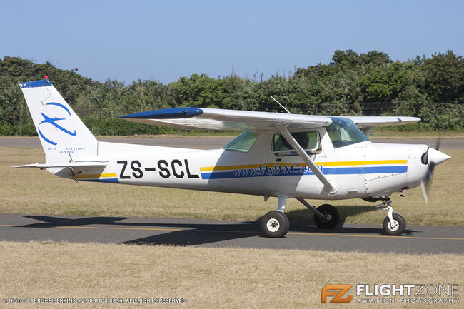
[[[171,128],[213,131],[265,131],[283,126],[293,131],[319,128],[332,123],[331,118],[327,116],[191,107],[144,111],[121,118]]]

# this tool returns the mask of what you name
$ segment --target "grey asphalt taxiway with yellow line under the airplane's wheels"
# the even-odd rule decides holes
[[[254,221],[0,214],[0,240],[464,254],[464,226],[408,226],[403,235],[389,236],[380,224],[321,230],[291,223],[286,237],[267,238]]]

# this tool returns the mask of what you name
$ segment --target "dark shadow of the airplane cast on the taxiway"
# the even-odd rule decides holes
[[[59,226],[114,226],[124,227],[130,230],[130,227],[137,228],[166,228],[165,233],[156,232],[156,235],[150,235],[143,238],[136,238],[121,242],[126,245],[202,245],[207,243],[216,243],[227,240],[236,240],[240,238],[249,238],[262,236],[259,221],[247,221],[238,223],[141,223],[141,222],[120,222],[130,217],[86,217],[86,218],[59,218],[54,216],[24,216],[35,220],[43,221],[41,223],[32,223],[29,225],[18,226],[24,228],[54,228]],[[156,219],[154,219],[156,221]],[[165,221],[163,219],[162,221]],[[178,231],[169,231],[178,229]],[[383,228],[369,227],[343,227],[338,226],[331,230],[321,230],[314,223],[291,222],[289,232],[303,233],[339,233],[339,234],[370,234],[385,235]],[[405,234],[412,231],[406,230]],[[89,239],[89,241],[92,241]],[[231,245],[236,245],[231,243]]]

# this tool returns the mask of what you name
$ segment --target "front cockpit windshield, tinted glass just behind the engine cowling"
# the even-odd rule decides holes
[[[333,148],[368,141],[368,138],[365,137],[352,120],[343,117],[330,118],[332,119],[332,123],[330,126],[326,126],[326,130],[328,136],[331,138]]]

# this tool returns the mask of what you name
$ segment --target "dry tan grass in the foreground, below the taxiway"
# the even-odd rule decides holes
[[[356,303],[357,297],[350,303],[321,303],[321,290],[334,284],[459,284],[457,293],[462,298],[464,272],[463,255],[453,254],[49,241],[0,242],[0,259],[2,308],[392,308],[391,304]],[[355,295],[355,287],[348,290],[348,295]],[[187,303],[5,303],[4,298],[14,297],[186,298]],[[397,293],[393,307],[459,308],[459,305],[404,305],[400,304]]]

